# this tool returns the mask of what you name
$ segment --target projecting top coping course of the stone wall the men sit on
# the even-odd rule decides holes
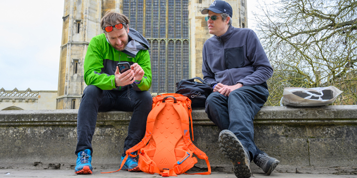
[[[12,110],[0,111],[0,126],[9,125],[75,125],[78,110]],[[98,125],[106,121],[129,121],[132,112],[98,113]],[[214,125],[203,108],[192,110],[194,124]],[[321,107],[265,106],[254,119],[255,124],[356,124],[357,105]]]

